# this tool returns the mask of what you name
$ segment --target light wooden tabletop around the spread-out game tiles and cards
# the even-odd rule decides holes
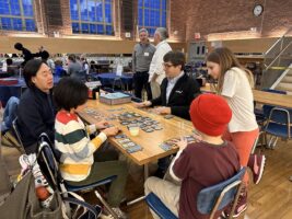
[[[160,158],[164,158],[166,155],[170,155],[172,153],[175,153],[178,149],[173,149],[170,151],[164,151],[159,147],[160,143],[162,143],[165,140],[168,140],[171,138],[180,137],[180,136],[187,136],[191,135],[191,130],[194,129],[190,122],[174,117],[171,119],[166,119],[161,115],[151,114],[147,111],[142,111],[139,108],[136,108],[132,103],[129,104],[121,104],[121,105],[106,105],[103,103],[100,103],[98,101],[89,101],[87,107],[95,108],[98,113],[101,113],[105,118],[108,117],[110,114],[120,114],[124,112],[135,112],[142,116],[148,116],[152,119],[157,120],[161,126],[163,127],[162,130],[154,130],[153,132],[145,132],[140,129],[139,136],[132,137],[130,136],[129,130],[126,126],[120,125],[118,119],[115,120],[108,120],[109,124],[116,125],[121,128],[122,132],[127,135],[127,137],[130,138],[135,143],[141,146],[143,148],[142,151],[138,151],[135,153],[128,153],[118,142],[115,138],[109,138],[109,142],[115,146],[118,150],[120,150],[126,157],[130,158],[135,163],[139,165],[148,164],[152,161],[156,161]],[[124,108],[122,111],[114,111],[118,108]],[[110,111],[108,111],[110,110]],[[89,124],[94,124],[98,119],[94,118],[91,115],[87,115],[85,112],[79,113],[79,115]]]

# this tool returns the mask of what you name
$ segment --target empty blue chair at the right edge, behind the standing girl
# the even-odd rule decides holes
[[[264,126],[266,142],[267,134],[271,136],[269,142],[267,143],[269,148],[276,147],[279,137],[284,139],[291,139],[292,108],[264,108],[264,114],[269,114],[267,124]]]

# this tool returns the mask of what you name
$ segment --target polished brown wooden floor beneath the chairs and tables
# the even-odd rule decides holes
[[[2,155],[9,173],[13,178],[20,173],[17,158],[20,153],[13,148],[2,147]],[[259,150],[257,150],[259,152]],[[267,164],[261,182],[249,186],[248,209],[241,219],[291,219],[292,218],[292,141],[279,141],[276,149],[264,149]],[[143,193],[142,169],[130,164],[126,194],[132,199]],[[131,219],[152,219],[144,204],[124,206]]]

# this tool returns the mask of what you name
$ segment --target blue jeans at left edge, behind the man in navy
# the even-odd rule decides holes
[[[1,123],[1,131],[5,132],[12,126],[12,122],[16,118],[17,105],[20,100],[15,96],[11,96],[7,103],[3,122]]]

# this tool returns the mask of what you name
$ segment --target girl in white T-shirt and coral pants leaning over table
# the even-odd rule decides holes
[[[225,47],[217,48],[208,55],[207,68],[208,73],[218,81],[214,85],[217,93],[227,101],[233,114],[223,138],[234,143],[240,154],[241,165],[250,168],[254,183],[258,184],[264,172],[266,158],[265,155],[250,155],[259,134],[254,114],[253,73],[243,68],[233,53]],[[245,188],[242,191],[235,208],[235,217],[247,208],[247,173],[244,182]],[[224,212],[227,216],[230,209]]]

